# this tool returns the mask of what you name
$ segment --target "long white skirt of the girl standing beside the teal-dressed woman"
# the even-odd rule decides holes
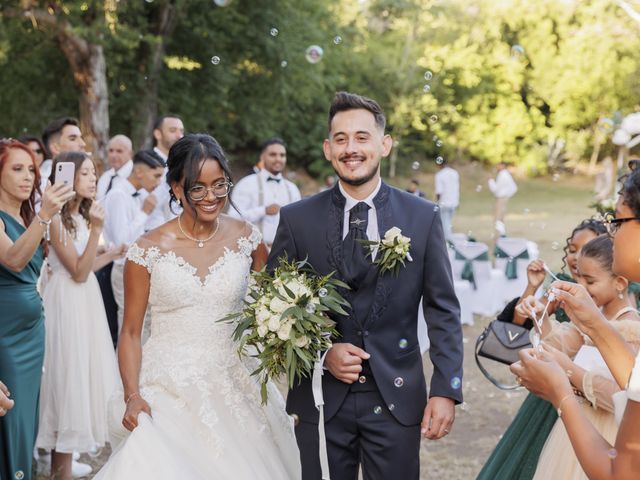
[[[44,286],[45,357],[36,446],[88,452],[108,441],[107,404],[120,377],[93,273],[54,272]]]

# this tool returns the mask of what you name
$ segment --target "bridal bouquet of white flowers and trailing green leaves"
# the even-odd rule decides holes
[[[338,287],[349,287],[332,275],[318,275],[306,260],[280,259],[273,273],[252,274],[242,311],[221,320],[235,324],[238,354],[257,358],[252,375],[260,377],[263,403],[270,379],[284,374],[291,388],[296,377],[310,376],[319,355],[331,348],[338,332],[329,315],[346,315],[349,307],[338,293]]]

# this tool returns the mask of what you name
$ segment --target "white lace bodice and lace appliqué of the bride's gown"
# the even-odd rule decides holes
[[[152,410],[155,395],[170,393],[176,408],[201,419],[201,433],[218,452],[223,451],[222,439],[215,427],[221,415],[231,416],[240,429],[248,428],[249,417],[265,415],[259,407],[257,379],[250,375],[253,368],[237,354],[233,326],[219,322],[242,308],[251,254],[260,241],[260,232],[252,227],[250,234],[236,240],[235,248],[224,248],[203,278],[172,251],[134,243],[127,253],[129,261],[150,274],[151,335],[143,347],[141,393]],[[288,428],[289,418],[281,407],[281,423]],[[251,433],[266,434],[268,422],[263,424],[265,431]]]

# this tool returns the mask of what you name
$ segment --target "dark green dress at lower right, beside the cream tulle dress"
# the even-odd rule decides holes
[[[564,273],[558,279],[574,282]],[[555,312],[559,322],[569,321],[562,309]],[[547,437],[558,419],[558,413],[546,400],[530,393],[504,432],[476,480],[531,480]]]

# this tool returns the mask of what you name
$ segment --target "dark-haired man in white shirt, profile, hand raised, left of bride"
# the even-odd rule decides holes
[[[141,150],[133,157],[133,170],[126,181],[113,187],[104,200],[104,238],[108,244],[130,245],[145,231],[145,224],[156,206],[153,194],[140,201],[141,191],[152,192],[162,180],[164,164],[153,152]],[[114,260],[111,286],[118,304],[118,332],[124,314],[124,258]]]

